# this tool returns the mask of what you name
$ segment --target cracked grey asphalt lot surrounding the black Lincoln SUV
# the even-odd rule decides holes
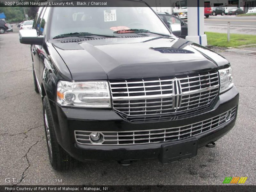
[[[48,179],[59,179],[60,185],[222,185],[227,176],[247,176],[245,184],[256,185],[256,57],[220,54],[233,66],[240,101],[235,127],[215,148],[200,148],[196,157],[173,164],[90,162],[56,172],[48,160],[42,100],[34,91],[29,45],[19,43],[18,33],[0,35],[0,185],[17,184],[5,178],[34,180],[21,185],[56,184]],[[41,180],[36,183],[36,179]]]

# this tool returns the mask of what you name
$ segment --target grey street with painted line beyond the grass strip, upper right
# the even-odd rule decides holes
[[[230,33],[256,35],[256,16],[210,16],[209,18],[204,18],[204,31],[227,33],[228,21],[230,21]],[[185,20],[185,22],[187,22],[187,20]]]

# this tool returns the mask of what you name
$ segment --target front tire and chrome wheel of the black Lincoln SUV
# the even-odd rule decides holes
[[[57,142],[53,128],[50,103],[47,96],[45,96],[43,99],[43,114],[46,143],[52,168],[58,171],[74,168],[77,164],[77,161],[72,158]]]

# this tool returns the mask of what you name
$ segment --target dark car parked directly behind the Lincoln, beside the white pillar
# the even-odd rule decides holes
[[[183,20],[166,12],[159,12],[157,14],[164,21],[167,27],[170,28],[170,30],[174,35],[177,35],[183,39],[185,39],[186,36],[188,36],[188,24],[185,23]],[[177,24],[181,26],[180,28],[181,32],[179,30],[178,31],[172,30],[172,26]]]

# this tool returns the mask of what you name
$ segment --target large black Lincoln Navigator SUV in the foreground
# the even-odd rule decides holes
[[[33,28],[20,30],[56,170],[76,160],[191,158],[235,125],[229,61],[174,36],[143,1],[113,3],[40,7]]]

